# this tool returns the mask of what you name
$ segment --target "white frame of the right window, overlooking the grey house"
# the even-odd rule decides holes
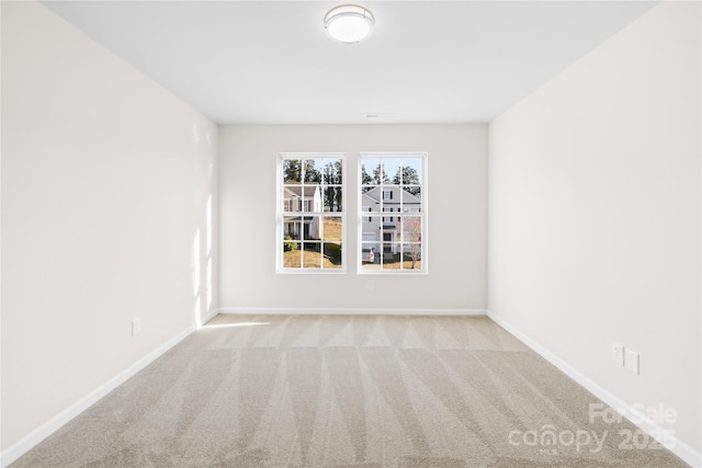
[[[410,270],[395,270],[395,269],[386,269],[386,270],[375,270],[375,269],[364,269],[362,263],[361,249],[363,248],[363,220],[370,219],[371,213],[369,212],[369,206],[363,206],[363,184],[361,178],[361,168],[363,167],[363,161],[367,159],[389,159],[389,158],[420,158],[421,159],[421,179],[419,181],[421,186],[421,210],[416,210],[416,208],[401,209],[398,212],[393,212],[393,216],[397,219],[401,219],[404,216],[412,216],[421,218],[421,250],[420,250],[420,259],[421,266],[419,269]],[[429,202],[428,202],[428,180],[429,180],[429,164],[428,164],[429,153],[426,151],[393,151],[393,152],[375,152],[375,151],[362,151],[359,152],[358,157],[358,168],[356,168],[356,228],[358,228],[358,246],[356,246],[356,272],[361,275],[427,275],[429,274],[429,265],[428,265],[428,251],[429,251]],[[366,171],[371,171],[372,168],[366,167]],[[381,185],[382,186],[382,185]],[[396,186],[396,185],[393,185]],[[381,189],[381,198],[384,199],[385,191]],[[390,192],[392,193],[392,192]],[[390,195],[392,196],[392,195]],[[389,198],[392,199],[392,198]],[[401,199],[401,197],[400,197]],[[365,208],[365,209],[364,209]],[[389,215],[386,215],[383,208],[381,212],[372,212],[372,214],[376,217],[381,218],[381,221]],[[376,252],[377,254],[377,252]]]

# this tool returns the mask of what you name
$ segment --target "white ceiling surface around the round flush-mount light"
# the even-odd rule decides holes
[[[44,4],[219,124],[354,124],[489,122],[656,3],[366,1],[341,44],[344,1]]]

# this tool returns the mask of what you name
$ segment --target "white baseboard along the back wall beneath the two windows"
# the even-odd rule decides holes
[[[366,308],[290,308],[222,307],[218,313],[241,316],[487,316],[485,309],[366,309]]]

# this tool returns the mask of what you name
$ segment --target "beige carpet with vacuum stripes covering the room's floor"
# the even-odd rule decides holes
[[[598,402],[487,318],[218,316],[12,467],[687,466]]]

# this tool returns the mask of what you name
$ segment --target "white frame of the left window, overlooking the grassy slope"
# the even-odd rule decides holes
[[[348,191],[347,191],[347,180],[349,174],[347,172],[347,153],[346,152],[279,152],[276,155],[276,197],[275,197],[275,272],[279,274],[346,274],[347,273],[347,264],[348,264],[348,254],[347,254],[347,210],[349,206],[348,201]],[[324,217],[336,217],[341,218],[341,267],[339,269],[310,269],[310,267],[284,267],[283,266],[283,241],[284,241],[284,206],[283,206],[283,161],[286,159],[319,159],[319,158],[329,158],[329,159],[340,159],[341,160],[341,196],[342,196],[342,210],[341,212],[325,212],[324,210],[324,199],[321,212],[303,212],[308,213],[310,216],[319,216]],[[322,185],[324,186],[324,185]],[[324,195],[322,195],[324,196]],[[307,201],[312,203],[312,201]],[[302,205],[302,201],[301,201]],[[290,207],[288,207],[290,208]],[[304,215],[303,215],[304,216]],[[304,242],[304,241],[303,241]]]

